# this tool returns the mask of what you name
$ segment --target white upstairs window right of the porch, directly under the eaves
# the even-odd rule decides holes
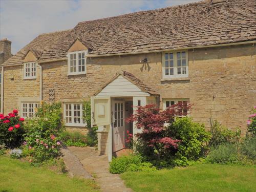
[[[163,53],[163,78],[188,77],[187,51]]]

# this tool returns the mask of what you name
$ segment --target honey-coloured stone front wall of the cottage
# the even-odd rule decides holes
[[[195,121],[209,127],[212,117],[232,129],[240,126],[245,133],[247,116],[256,104],[255,52],[252,45],[189,50],[189,77],[176,80],[162,79],[161,53],[87,58],[86,75],[68,76],[67,61],[42,63],[42,98],[49,101],[49,89],[54,89],[55,101],[88,99],[116,72],[126,70],[158,91],[161,101],[163,98],[189,98],[194,104],[191,116]],[[145,57],[148,64],[140,63]],[[18,76],[17,86],[8,91],[14,81],[5,80],[5,110],[11,109],[13,99],[39,92],[38,80],[33,80],[37,85],[32,86],[32,82],[20,80]],[[16,92],[19,95],[14,94]]]

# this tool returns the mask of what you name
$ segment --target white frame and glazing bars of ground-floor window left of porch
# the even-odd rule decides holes
[[[71,116],[68,116],[68,117],[71,117],[71,122],[66,122],[66,104],[71,104]],[[78,117],[78,116],[74,116],[74,105],[75,104],[79,104],[80,105],[80,123],[75,123],[75,118]],[[85,122],[85,120],[83,119],[82,117],[82,113],[83,113],[83,104],[81,102],[65,102],[63,103],[63,106],[64,106],[64,111],[63,111],[63,119],[65,121],[65,125],[66,126],[82,126],[82,127],[85,127],[87,125],[87,123]]]

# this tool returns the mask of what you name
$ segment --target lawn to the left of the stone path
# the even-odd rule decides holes
[[[90,180],[71,179],[47,168],[0,156],[0,192],[87,191],[96,192]]]

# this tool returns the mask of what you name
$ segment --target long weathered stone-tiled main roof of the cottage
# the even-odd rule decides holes
[[[42,51],[42,61],[65,58],[76,38],[92,46],[89,54],[99,55],[251,41],[256,39],[256,1],[205,0],[80,22],[72,30],[39,35],[4,65],[20,62],[31,48]]]

